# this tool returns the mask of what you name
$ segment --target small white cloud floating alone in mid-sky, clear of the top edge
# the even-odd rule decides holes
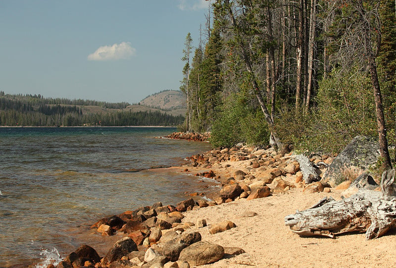
[[[136,49],[129,42],[100,46],[94,53],[88,55],[88,60],[129,59],[136,54]]]

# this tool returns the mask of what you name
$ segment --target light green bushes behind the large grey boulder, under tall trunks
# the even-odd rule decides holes
[[[307,115],[281,110],[276,131],[282,141],[299,150],[338,153],[356,135],[378,135],[372,84],[364,73],[321,81],[316,102]]]

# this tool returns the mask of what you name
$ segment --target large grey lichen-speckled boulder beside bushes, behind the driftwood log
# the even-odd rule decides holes
[[[331,186],[341,183],[346,172],[356,174],[364,173],[373,164],[377,163],[380,156],[378,138],[356,136],[345,149],[334,158],[325,171],[322,182]]]

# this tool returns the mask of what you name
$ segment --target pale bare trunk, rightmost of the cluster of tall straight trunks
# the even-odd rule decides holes
[[[313,48],[315,42],[315,27],[316,27],[316,0],[311,1],[311,16],[309,23],[309,46],[308,46],[308,85],[306,89],[306,102],[305,102],[305,112],[309,110],[309,101],[311,99],[311,91],[313,87],[312,83],[312,67],[313,67]]]

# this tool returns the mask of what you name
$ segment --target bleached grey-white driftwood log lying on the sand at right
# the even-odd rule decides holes
[[[396,226],[395,170],[382,175],[382,192],[360,190],[347,199],[324,198],[310,209],[285,217],[285,224],[301,236],[329,236],[359,231],[366,239],[384,235]]]

